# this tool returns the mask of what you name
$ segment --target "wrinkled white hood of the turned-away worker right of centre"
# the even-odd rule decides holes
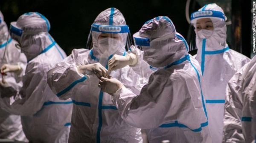
[[[143,60],[156,68],[168,66],[187,54],[186,40],[177,33],[168,17],[147,21],[133,37],[136,45],[144,51]]]

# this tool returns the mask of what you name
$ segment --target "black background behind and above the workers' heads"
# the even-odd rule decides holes
[[[122,12],[127,25],[130,27],[131,34],[139,31],[147,20],[157,16],[168,16],[175,24],[177,31],[190,44],[195,34],[186,20],[185,9],[187,1],[190,1],[189,17],[192,12],[197,11],[205,4],[217,3],[224,9],[228,17],[227,21],[230,22],[235,19],[232,18],[236,16],[234,14],[235,10],[242,14],[243,9],[247,8],[249,12],[245,11],[248,13],[246,23],[249,23],[247,26],[251,26],[251,0],[243,2],[247,3],[244,6],[242,6],[242,0],[68,0],[65,2],[63,0],[0,0],[0,11],[2,11],[8,26],[10,22],[16,21],[25,12],[37,11],[43,14],[51,24],[49,33],[69,55],[74,48],[85,48],[93,20],[101,11],[110,7],[115,7]],[[239,3],[241,3],[240,7]],[[236,8],[232,9],[235,6]],[[236,19],[240,20],[240,24],[242,22],[241,17],[236,17]],[[227,26],[227,43],[231,48],[234,45],[232,35],[235,30],[233,29],[237,28],[237,25],[230,24]],[[238,26],[243,29],[242,25]],[[251,30],[251,27],[249,29]],[[241,34],[238,36],[242,37]],[[242,39],[239,43],[240,45],[237,46],[238,49],[236,51],[240,50],[239,52],[242,53]],[[236,49],[236,47],[232,49]],[[250,53],[250,51],[247,52]],[[249,57],[250,55],[248,54],[247,56]]]

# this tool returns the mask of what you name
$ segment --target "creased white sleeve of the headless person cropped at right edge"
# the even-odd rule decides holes
[[[245,143],[241,123],[243,108],[242,73],[243,69],[240,69],[227,83],[222,143]]]

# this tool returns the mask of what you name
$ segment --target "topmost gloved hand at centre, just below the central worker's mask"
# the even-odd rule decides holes
[[[108,60],[108,70],[114,71],[116,69],[121,69],[127,65],[135,65],[137,63],[136,54],[130,53],[125,56],[120,56],[118,54],[113,55],[113,57]]]

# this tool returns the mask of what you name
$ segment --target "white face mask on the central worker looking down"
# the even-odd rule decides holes
[[[99,50],[109,57],[121,48],[121,41],[110,37],[98,39]]]

